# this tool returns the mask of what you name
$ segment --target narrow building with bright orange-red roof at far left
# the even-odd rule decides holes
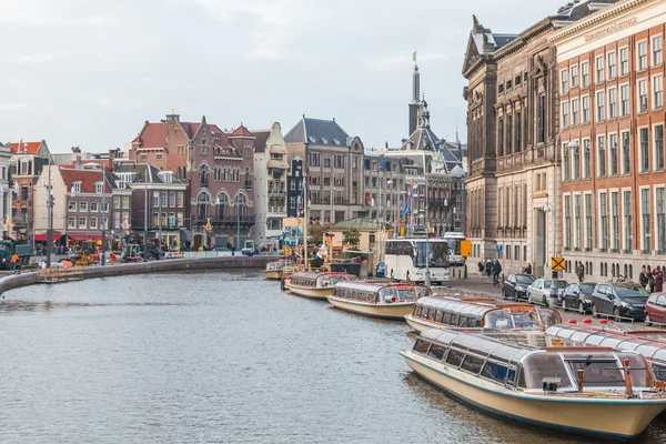
[[[46,141],[9,143],[11,151],[11,186],[16,192],[12,201],[12,221],[20,236],[32,235],[34,225],[34,183],[43,165],[49,163]]]

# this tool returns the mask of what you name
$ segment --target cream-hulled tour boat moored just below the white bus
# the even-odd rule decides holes
[[[329,302],[336,309],[371,317],[404,321],[420,297],[431,290],[413,283],[353,281],[335,284]]]

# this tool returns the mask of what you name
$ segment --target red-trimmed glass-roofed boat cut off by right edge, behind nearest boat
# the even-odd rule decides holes
[[[546,334],[589,345],[640,353],[653,366],[655,377],[666,383],[666,331],[619,323],[557,324]]]

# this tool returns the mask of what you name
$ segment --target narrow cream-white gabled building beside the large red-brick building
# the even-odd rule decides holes
[[[252,131],[254,140],[254,214],[251,238],[260,243],[275,241],[286,218],[287,154],[279,122],[271,130]]]

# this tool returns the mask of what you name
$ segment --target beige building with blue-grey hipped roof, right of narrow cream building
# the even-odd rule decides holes
[[[350,137],[335,119],[303,117],[284,141],[290,162],[304,160],[312,221],[335,223],[365,213],[363,142],[359,137]]]

